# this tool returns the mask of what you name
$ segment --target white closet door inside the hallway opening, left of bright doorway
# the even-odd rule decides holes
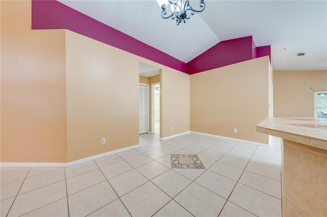
[[[149,110],[149,88],[145,85],[139,85],[139,134],[148,132],[148,110]]]

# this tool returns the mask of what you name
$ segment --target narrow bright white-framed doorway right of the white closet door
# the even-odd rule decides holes
[[[151,85],[151,129],[160,135],[160,83]]]

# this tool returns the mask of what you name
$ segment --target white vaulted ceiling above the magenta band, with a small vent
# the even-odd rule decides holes
[[[274,70],[327,69],[327,1],[205,0],[178,26],[161,18],[155,0],[60,2],[185,63],[221,40],[252,35],[256,46],[271,45]]]

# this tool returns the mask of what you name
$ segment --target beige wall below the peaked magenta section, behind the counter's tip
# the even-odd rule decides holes
[[[191,130],[268,144],[255,130],[269,116],[268,86],[268,57],[191,75]]]

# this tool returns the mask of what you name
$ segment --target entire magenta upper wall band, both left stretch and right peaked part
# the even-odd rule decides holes
[[[32,29],[67,29],[187,74],[270,58],[270,45],[255,47],[252,36],[247,36],[221,41],[186,64],[55,0],[32,0]]]

